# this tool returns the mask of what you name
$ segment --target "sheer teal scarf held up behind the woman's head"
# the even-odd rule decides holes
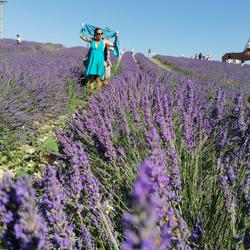
[[[95,32],[95,29],[97,27],[91,25],[91,24],[84,24],[83,27],[81,28],[81,34],[84,36],[84,37],[93,37],[94,36],[94,32]],[[101,28],[102,29],[102,32],[103,32],[103,37],[106,38],[106,39],[110,39],[110,38],[115,38],[115,41],[114,41],[114,56],[117,56],[119,57],[119,39],[117,37],[117,32],[113,31],[113,30],[110,30],[108,28]]]

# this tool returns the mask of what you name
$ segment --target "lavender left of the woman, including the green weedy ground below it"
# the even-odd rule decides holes
[[[37,150],[35,155],[29,151],[51,143],[49,128],[74,112],[81,95],[81,61],[85,53],[87,50],[80,47],[65,49],[62,45],[35,42],[16,46],[14,40],[1,40],[2,169],[23,169],[25,163],[33,166],[34,158],[40,158],[38,153],[43,150]]]

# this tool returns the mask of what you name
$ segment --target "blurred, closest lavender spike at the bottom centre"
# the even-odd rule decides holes
[[[158,249],[156,201],[152,199],[152,183],[146,161],[139,167],[133,189],[133,214],[124,214],[125,240],[121,249]]]

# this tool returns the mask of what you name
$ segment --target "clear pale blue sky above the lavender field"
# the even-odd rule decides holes
[[[250,0],[8,0],[4,38],[86,46],[80,24],[119,31],[121,48],[191,57],[244,49],[250,36]]]

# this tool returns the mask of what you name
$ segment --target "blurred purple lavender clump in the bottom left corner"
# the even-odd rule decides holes
[[[2,238],[8,248],[42,249],[47,229],[35,207],[30,176],[22,176],[14,184],[10,176],[5,175],[0,193],[1,212],[5,212]]]

